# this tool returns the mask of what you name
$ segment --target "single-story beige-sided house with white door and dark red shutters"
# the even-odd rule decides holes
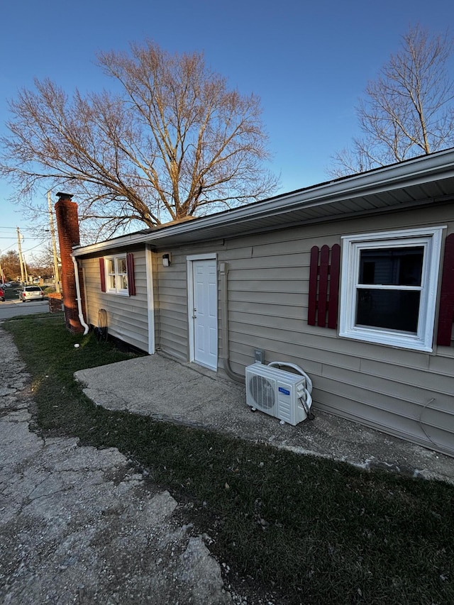
[[[264,351],[315,411],[454,455],[453,201],[450,149],[75,246],[82,321],[231,379]]]

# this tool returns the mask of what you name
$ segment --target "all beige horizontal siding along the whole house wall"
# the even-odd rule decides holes
[[[255,348],[263,349],[266,362],[294,362],[311,376],[315,413],[328,411],[454,455],[454,346],[434,346],[433,353],[426,353],[339,338],[337,330],[307,325],[313,245],[342,244],[342,235],[425,226],[447,226],[445,238],[454,231],[449,210],[448,205],[420,208],[157,250],[157,350],[189,360],[187,256],[216,252],[218,263],[228,264],[228,350],[234,372],[244,374]],[[162,267],[162,254],[168,252],[172,263]],[[102,294],[97,259],[84,260],[84,270],[89,321],[96,325],[98,309],[106,308],[111,333],[146,350],[145,257],[141,259],[135,252],[135,297]],[[220,347],[220,299],[218,305]]]

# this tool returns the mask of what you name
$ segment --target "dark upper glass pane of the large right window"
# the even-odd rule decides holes
[[[360,284],[420,286],[423,246],[361,250]]]

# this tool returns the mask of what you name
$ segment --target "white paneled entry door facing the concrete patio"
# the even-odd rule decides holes
[[[192,296],[191,296],[192,294]],[[192,357],[196,363],[218,367],[218,283],[216,258],[192,260],[192,292],[189,293],[192,322]]]

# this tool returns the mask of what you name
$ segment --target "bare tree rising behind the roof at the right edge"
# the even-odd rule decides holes
[[[454,145],[453,41],[417,25],[402,36],[356,112],[363,133],[333,157],[332,176],[364,172]]]

